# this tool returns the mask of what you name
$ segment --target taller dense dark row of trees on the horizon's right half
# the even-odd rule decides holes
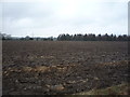
[[[116,34],[68,34],[63,33],[57,37],[58,41],[130,41],[130,36],[122,34],[122,36],[116,36]]]

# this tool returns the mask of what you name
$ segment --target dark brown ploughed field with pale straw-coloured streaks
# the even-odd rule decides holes
[[[128,83],[128,43],[3,41],[3,95],[64,95]]]

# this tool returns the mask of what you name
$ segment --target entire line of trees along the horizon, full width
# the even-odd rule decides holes
[[[11,37],[11,34],[6,33],[0,33],[0,39],[2,40],[35,40],[35,41],[130,41],[130,36],[122,34],[122,36],[116,36],[116,34],[98,34],[94,33],[86,33],[86,34],[68,34],[63,33],[60,34],[57,38],[49,37],[49,38],[31,38],[29,36],[26,36],[25,38],[14,38]]]

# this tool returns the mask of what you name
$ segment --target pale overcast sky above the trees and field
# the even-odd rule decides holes
[[[128,33],[128,2],[90,1],[3,2],[2,32],[14,37]]]

